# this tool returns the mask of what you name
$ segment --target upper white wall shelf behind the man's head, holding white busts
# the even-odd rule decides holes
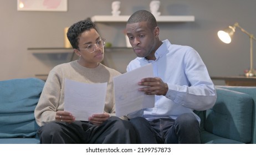
[[[93,16],[93,22],[127,22],[130,16]],[[194,22],[194,16],[157,16],[157,22]]]

